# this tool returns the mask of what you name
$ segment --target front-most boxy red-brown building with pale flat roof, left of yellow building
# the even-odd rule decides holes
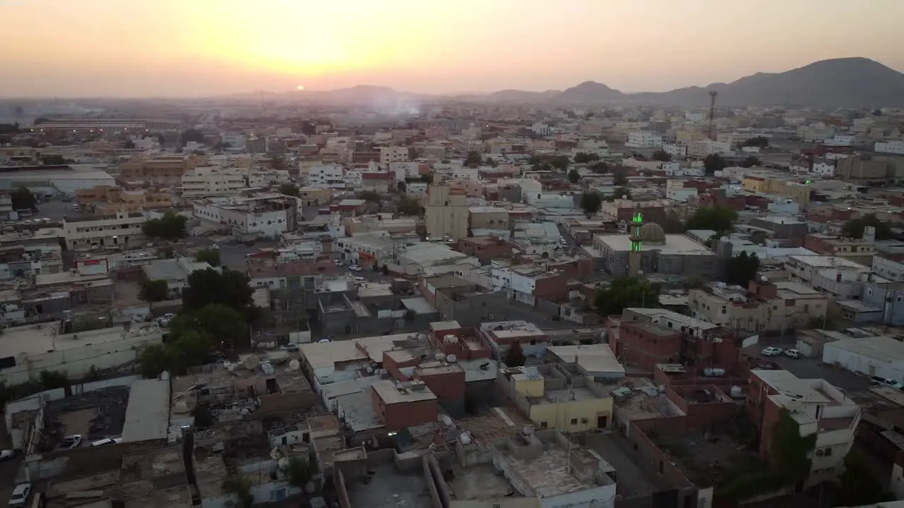
[[[437,421],[437,396],[420,380],[377,381],[372,384],[373,408],[386,430],[395,431]]]

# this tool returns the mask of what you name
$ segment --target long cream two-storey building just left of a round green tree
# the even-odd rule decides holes
[[[145,240],[142,226],[147,221],[141,213],[116,212],[116,215],[64,217],[63,239],[68,249],[120,247],[127,249]]]

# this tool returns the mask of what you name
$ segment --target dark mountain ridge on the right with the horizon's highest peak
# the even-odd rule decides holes
[[[867,58],[816,61],[785,72],[758,72],[730,83],[654,93],[623,94],[588,81],[566,89],[553,100],[564,104],[631,102],[648,105],[705,106],[710,92],[722,105],[793,104],[824,108],[904,106],[904,74]]]

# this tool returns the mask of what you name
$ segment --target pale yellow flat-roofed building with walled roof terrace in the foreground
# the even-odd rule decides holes
[[[612,398],[601,385],[565,364],[515,367],[500,372],[515,406],[538,428],[584,432],[607,428],[612,421]]]

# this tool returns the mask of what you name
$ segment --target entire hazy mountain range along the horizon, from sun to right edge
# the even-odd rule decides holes
[[[758,72],[730,83],[666,92],[625,93],[602,83],[585,81],[570,89],[542,92],[505,89],[479,95],[444,96],[476,102],[533,103],[574,106],[643,104],[705,106],[710,91],[719,92],[722,106],[796,105],[823,108],[904,107],[904,74],[867,58],[816,61],[785,72]],[[305,99],[347,103],[398,104],[439,99],[439,96],[401,92],[388,87],[357,86],[299,93]]]

